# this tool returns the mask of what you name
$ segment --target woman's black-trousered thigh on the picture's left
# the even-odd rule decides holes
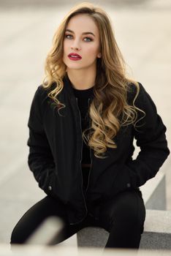
[[[50,216],[60,217],[66,222],[66,208],[60,200],[46,196],[28,209],[15,225],[12,230],[11,244],[23,244],[41,222]]]

